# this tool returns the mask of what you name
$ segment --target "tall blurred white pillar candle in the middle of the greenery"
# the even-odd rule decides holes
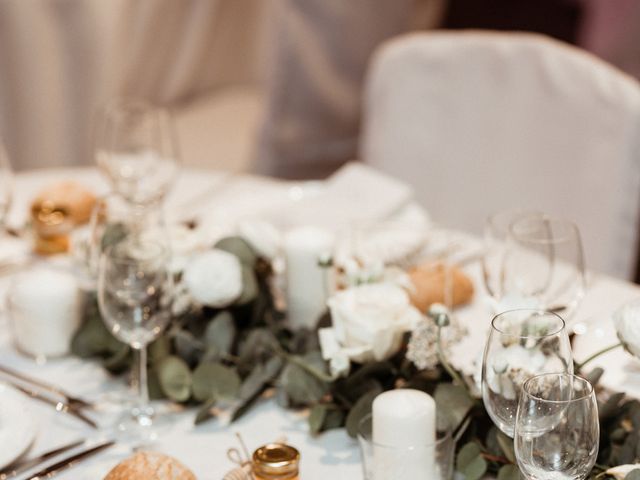
[[[327,271],[318,260],[333,249],[333,235],[317,227],[299,227],[284,238],[287,263],[287,311],[296,327],[314,327],[327,308]]]

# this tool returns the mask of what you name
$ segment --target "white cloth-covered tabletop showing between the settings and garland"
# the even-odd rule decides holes
[[[16,174],[14,195],[7,224],[14,230],[25,230],[29,219],[29,205],[43,187],[61,180],[74,180],[100,196],[109,185],[95,168],[58,168],[25,171]],[[361,186],[364,188],[364,186]],[[291,182],[214,170],[183,169],[170,194],[165,199],[167,218],[187,221],[206,219],[208,228],[225,230],[230,219],[249,216],[281,218],[283,212],[300,209],[309,199],[323,195],[322,181]],[[334,199],[335,200],[335,199]],[[317,204],[317,200],[310,203]],[[438,219],[446,225],[446,219]],[[283,227],[284,228],[284,227]],[[482,239],[465,232],[452,232],[460,251],[461,268],[472,279],[475,293],[470,304],[454,311],[456,319],[468,334],[451,352],[451,363],[473,376],[478,371],[482,349],[492,318],[487,294],[482,283]],[[20,259],[24,265],[20,266]],[[32,253],[28,233],[22,238],[4,235],[0,239],[0,264],[11,260],[18,265],[0,269],[0,295],[11,284],[12,274],[29,268],[34,262],[58,262],[69,259],[65,255],[37,257]],[[587,252],[588,263],[588,252]],[[612,313],[620,305],[640,298],[640,287],[597,272],[589,272],[587,290],[579,307],[567,319],[573,338],[576,360],[615,343],[616,334]],[[73,440],[97,443],[109,435],[118,398],[128,395],[126,375],[112,376],[96,361],[74,356],[36,361],[20,353],[13,344],[10,320],[6,307],[0,315],[0,366],[7,366],[32,377],[46,380],[74,395],[89,399],[103,409],[90,412],[100,428],[94,429],[77,418],[59,412],[50,405],[24,396],[25,415],[32,420],[33,440],[27,455],[64,445]],[[605,372],[601,382],[606,388],[621,390],[640,398],[640,361],[623,349],[612,350],[593,362]],[[0,382],[6,378],[0,375]],[[2,391],[0,390],[0,395]],[[286,438],[301,454],[301,478],[304,480],[358,480],[363,478],[357,441],[344,429],[334,429],[312,436],[307,426],[308,412],[280,407],[274,398],[262,398],[239,420],[230,423],[224,415],[194,425],[195,409],[169,402],[156,402],[158,438],[149,448],[171,455],[188,466],[202,480],[220,480],[236,465],[228,455],[229,449],[240,447],[239,434],[249,451],[276,439]],[[20,432],[2,432],[0,438],[10,442]],[[146,447],[146,446],[145,446]],[[77,447],[80,450],[82,447]],[[101,479],[118,462],[131,455],[131,445],[116,444],[56,478]]]

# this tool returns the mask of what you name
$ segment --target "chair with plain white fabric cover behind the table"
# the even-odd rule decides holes
[[[577,48],[524,33],[387,42],[368,72],[361,157],[410,182],[433,219],[571,218],[590,268],[630,278],[640,205],[640,87]]]

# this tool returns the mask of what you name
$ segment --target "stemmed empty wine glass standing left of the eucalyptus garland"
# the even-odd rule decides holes
[[[169,255],[163,244],[131,239],[103,252],[98,275],[102,320],[118,340],[138,352],[138,405],[131,411],[134,427],[153,423],[146,347],[170,321],[171,294]]]

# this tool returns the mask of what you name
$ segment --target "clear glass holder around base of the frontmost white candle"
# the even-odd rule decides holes
[[[398,447],[373,441],[372,416],[358,427],[358,445],[364,480],[450,480],[455,440],[450,431],[438,432],[431,445]]]

